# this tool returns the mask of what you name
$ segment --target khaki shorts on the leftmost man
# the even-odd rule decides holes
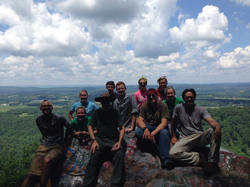
[[[41,176],[44,158],[47,156],[50,157],[52,159],[52,165],[54,166],[57,160],[62,156],[63,152],[63,147],[58,144],[51,147],[40,145],[36,150],[36,154],[30,165],[28,174]]]

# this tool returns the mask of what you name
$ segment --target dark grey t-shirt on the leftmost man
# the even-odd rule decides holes
[[[43,135],[42,144],[46,147],[56,144],[62,145],[64,136],[63,127],[67,123],[67,120],[63,116],[54,113],[48,119],[44,118],[44,115],[36,118],[36,124]]]

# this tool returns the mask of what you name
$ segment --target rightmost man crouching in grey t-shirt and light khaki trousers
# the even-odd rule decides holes
[[[182,92],[185,103],[175,106],[173,113],[172,143],[170,157],[176,161],[189,165],[205,165],[204,174],[211,175],[220,172],[218,166],[219,149],[221,143],[221,129],[215,121],[201,106],[194,103],[196,92],[194,89],[185,89]],[[205,119],[212,128],[203,132],[201,121]],[[180,140],[175,135],[176,125],[180,125]],[[203,154],[191,152],[194,147],[205,147],[210,144],[208,163],[205,163]]]

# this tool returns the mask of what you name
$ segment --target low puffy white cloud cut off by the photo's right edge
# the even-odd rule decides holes
[[[247,68],[250,65],[250,46],[238,47],[233,52],[224,53],[216,62],[218,68]]]

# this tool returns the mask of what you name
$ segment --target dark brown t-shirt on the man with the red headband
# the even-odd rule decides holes
[[[157,108],[153,109],[147,102],[141,107],[140,117],[145,120],[145,123],[158,126],[161,123],[161,119],[169,118],[168,105],[159,101]]]

